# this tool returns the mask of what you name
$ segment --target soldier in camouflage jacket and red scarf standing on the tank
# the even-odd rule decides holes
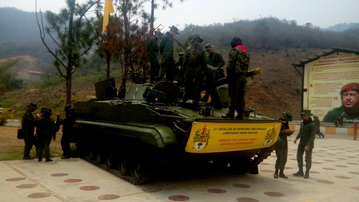
[[[246,47],[243,46],[239,37],[234,37],[230,42],[232,50],[229,52],[227,63],[228,78],[228,97],[230,99],[229,110],[227,114],[223,114],[223,118],[244,119],[244,110],[246,109],[247,71],[249,66],[250,54]],[[237,116],[234,113],[237,111]]]

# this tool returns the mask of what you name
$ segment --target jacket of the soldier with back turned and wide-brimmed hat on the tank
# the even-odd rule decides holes
[[[196,49],[197,55],[191,54]],[[203,77],[207,75],[206,51],[200,45],[192,45],[187,48],[183,60],[183,72],[186,77]]]

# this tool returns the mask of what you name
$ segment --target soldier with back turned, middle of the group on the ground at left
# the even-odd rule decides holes
[[[52,161],[50,159],[50,143],[51,139],[56,141],[56,124],[55,121],[51,118],[52,110],[46,109],[44,115],[37,121],[37,137],[39,141],[39,159],[42,161],[42,150],[45,151],[46,162]]]

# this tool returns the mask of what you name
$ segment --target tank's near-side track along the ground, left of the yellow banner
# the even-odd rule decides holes
[[[158,166],[156,166],[153,169],[151,169],[150,171],[148,171],[148,173],[146,173],[145,176],[141,177],[139,180],[135,180],[134,178],[132,178],[132,176],[121,175],[120,171],[118,171],[116,169],[112,169],[112,168],[107,168],[106,165],[99,164],[95,160],[91,160],[87,156],[79,156],[79,158],[89,162],[90,164],[92,164],[94,166],[101,168],[102,170],[107,171],[108,173],[111,173],[112,175],[115,175],[116,177],[118,177],[120,179],[123,179],[131,184],[134,184],[134,185],[146,184],[146,183],[153,181],[155,174],[157,173],[157,170],[158,170]]]

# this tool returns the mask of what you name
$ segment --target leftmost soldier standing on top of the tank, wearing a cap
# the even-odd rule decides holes
[[[159,46],[158,41],[162,38],[163,34],[160,31],[155,31],[155,35],[150,37],[150,40],[147,44],[148,58],[150,60],[151,69],[150,69],[150,83],[154,84],[155,78],[158,77],[158,72],[160,68],[159,64]]]

